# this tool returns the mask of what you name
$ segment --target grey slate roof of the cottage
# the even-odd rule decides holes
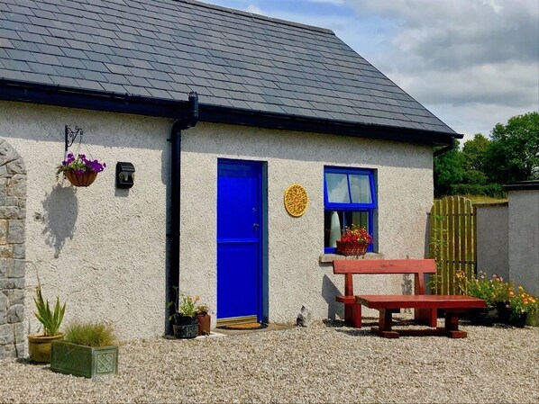
[[[333,31],[187,0],[2,0],[0,79],[461,137]]]

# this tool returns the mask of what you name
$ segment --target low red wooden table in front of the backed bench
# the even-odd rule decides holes
[[[356,302],[370,309],[379,310],[379,327],[370,328],[379,337],[398,338],[400,336],[446,336],[465,338],[467,333],[459,330],[459,315],[470,309],[487,306],[487,302],[471,296],[407,294],[407,295],[361,295],[356,296]],[[391,328],[391,315],[400,309],[443,309],[445,311],[445,326],[443,328],[399,329]]]

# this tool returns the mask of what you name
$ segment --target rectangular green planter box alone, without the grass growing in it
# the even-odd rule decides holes
[[[50,370],[87,378],[118,373],[118,346],[79,346],[55,341]]]

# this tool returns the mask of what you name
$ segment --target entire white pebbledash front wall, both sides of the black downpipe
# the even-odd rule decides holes
[[[33,287],[68,301],[66,321],[106,319],[122,339],[161,335],[169,138],[173,121],[27,103],[0,102],[0,137],[23,157],[28,172],[26,313],[31,332]],[[92,157],[108,167],[88,188],[58,183],[64,125],[85,131]],[[73,146],[71,150],[76,151]],[[87,151],[83,148],[82,152]],[[374,139],[259,130],[198,123],[184,130],[181,154],[180,291],[216,306],[216,184],[220,157],[268,166],[270,321],[292,322],[302,305],[315,319],[341,317],[334,302],[343,276],[320,264],[324,251],[324,165],[377,170],[378,252],[422,258],[426,214],[433,202],[432,148]],[[114,187],[117,161],[136,168],[131,190]],[[305,215],[283,206],[289,184],[309,196]],[[407,289],[403,276],[362,276],[357,292]],[[215,326],[215,316],[213,316]]]

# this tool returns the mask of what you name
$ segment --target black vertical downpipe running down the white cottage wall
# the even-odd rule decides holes
[[[186,116],[174,122],[170,133],[170,232],[169,232],[169,265],[167,268],[166,301],[176,300],[175,286],[179,286],[179,190],[181,174],[181,131],[193,128],[198,121],[198,95],[189,94],[189,108]],[[171,334],[169,316],[174,307],[166,310],[165,333]]]

